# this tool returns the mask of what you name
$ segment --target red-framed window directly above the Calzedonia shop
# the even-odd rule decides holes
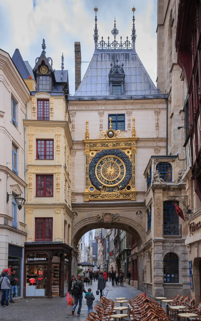
[[[52,218],[35,218],[35,241],[52,241]]]

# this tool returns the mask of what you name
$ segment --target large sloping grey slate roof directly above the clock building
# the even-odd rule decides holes
[[[110,64],[124,64],[124,95],[160,95],[137,54],[132,49],[98,49],[74,96],[113,96],[110,95]],[[112,97],[111,97],[112,98]],[[148,98],[148,97],[147,97]],[[73,99],[73,97],[72,97]]]

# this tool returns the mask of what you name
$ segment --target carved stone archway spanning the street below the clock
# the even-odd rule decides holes
[[[130,233],[138,243],[138,250],[146,242],[145,217],[142,211],[77,211],[72,222],[72,274],[77,269],[77,244],[83,234],[96,228],[115,228]]]

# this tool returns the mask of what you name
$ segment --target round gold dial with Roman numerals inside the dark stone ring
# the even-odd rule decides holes
[[[119,185],[126,175],[126,166],[117,156],[102,157],[96,165],[96,177],[104,186]]]

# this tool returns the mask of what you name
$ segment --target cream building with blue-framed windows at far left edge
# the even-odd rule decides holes
[[[0,271],[8,266],[16,269],[18,296],[23,292],[27,233],[24,207],[18,209],[15,197],[24,197],[27,186],[23,119],[29,97],[11,57],[0,49]]]

